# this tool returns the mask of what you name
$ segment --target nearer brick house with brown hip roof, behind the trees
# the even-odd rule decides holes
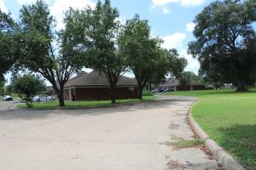
[[[120,77],[116,88],[117,99],[134,99],[137,97],[137,81],[134,78]],[[64,99],[97,100],[110,99],[110,90],[107,77],[104,73],[91,71],[80,72],[71,78],[64,88]]]

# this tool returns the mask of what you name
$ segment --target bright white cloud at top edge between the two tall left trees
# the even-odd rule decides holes
[[[50,7],[51,14],[55,16],[57,21],[57,28],[61,29],[64,27],[62,22],[64,12],[69,8],[86,8],[90,6],[94,8],[96,3],[92,2],[91,0],[55,0],[55,3]]]

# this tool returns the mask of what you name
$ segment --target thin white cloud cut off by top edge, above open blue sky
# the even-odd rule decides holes
[[[182,6],[198,6],[205,3],[206,0],[152,0],[153,6],[164,6],[168,3],[179,3]]]

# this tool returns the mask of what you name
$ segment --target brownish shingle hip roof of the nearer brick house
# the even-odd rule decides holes
[[[109,82],[104,73],[98,71],[91,71],[88,74],[79,74],[76,77],[67,81],[65,88],[67,87],[94,87],[94,86],[109,86]],[[134,78],[120,77],[117,86],[130,86],[137,87],[137,81]]]

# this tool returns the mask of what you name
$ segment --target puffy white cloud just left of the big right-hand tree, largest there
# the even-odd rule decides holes
[[[176,32],[172,35],[163,37],[163,40],[165,41],[162,45],[163,48],[177,48],[181,49],[183,48],[183,41],[186,39],[186,33],[180,33]]]

